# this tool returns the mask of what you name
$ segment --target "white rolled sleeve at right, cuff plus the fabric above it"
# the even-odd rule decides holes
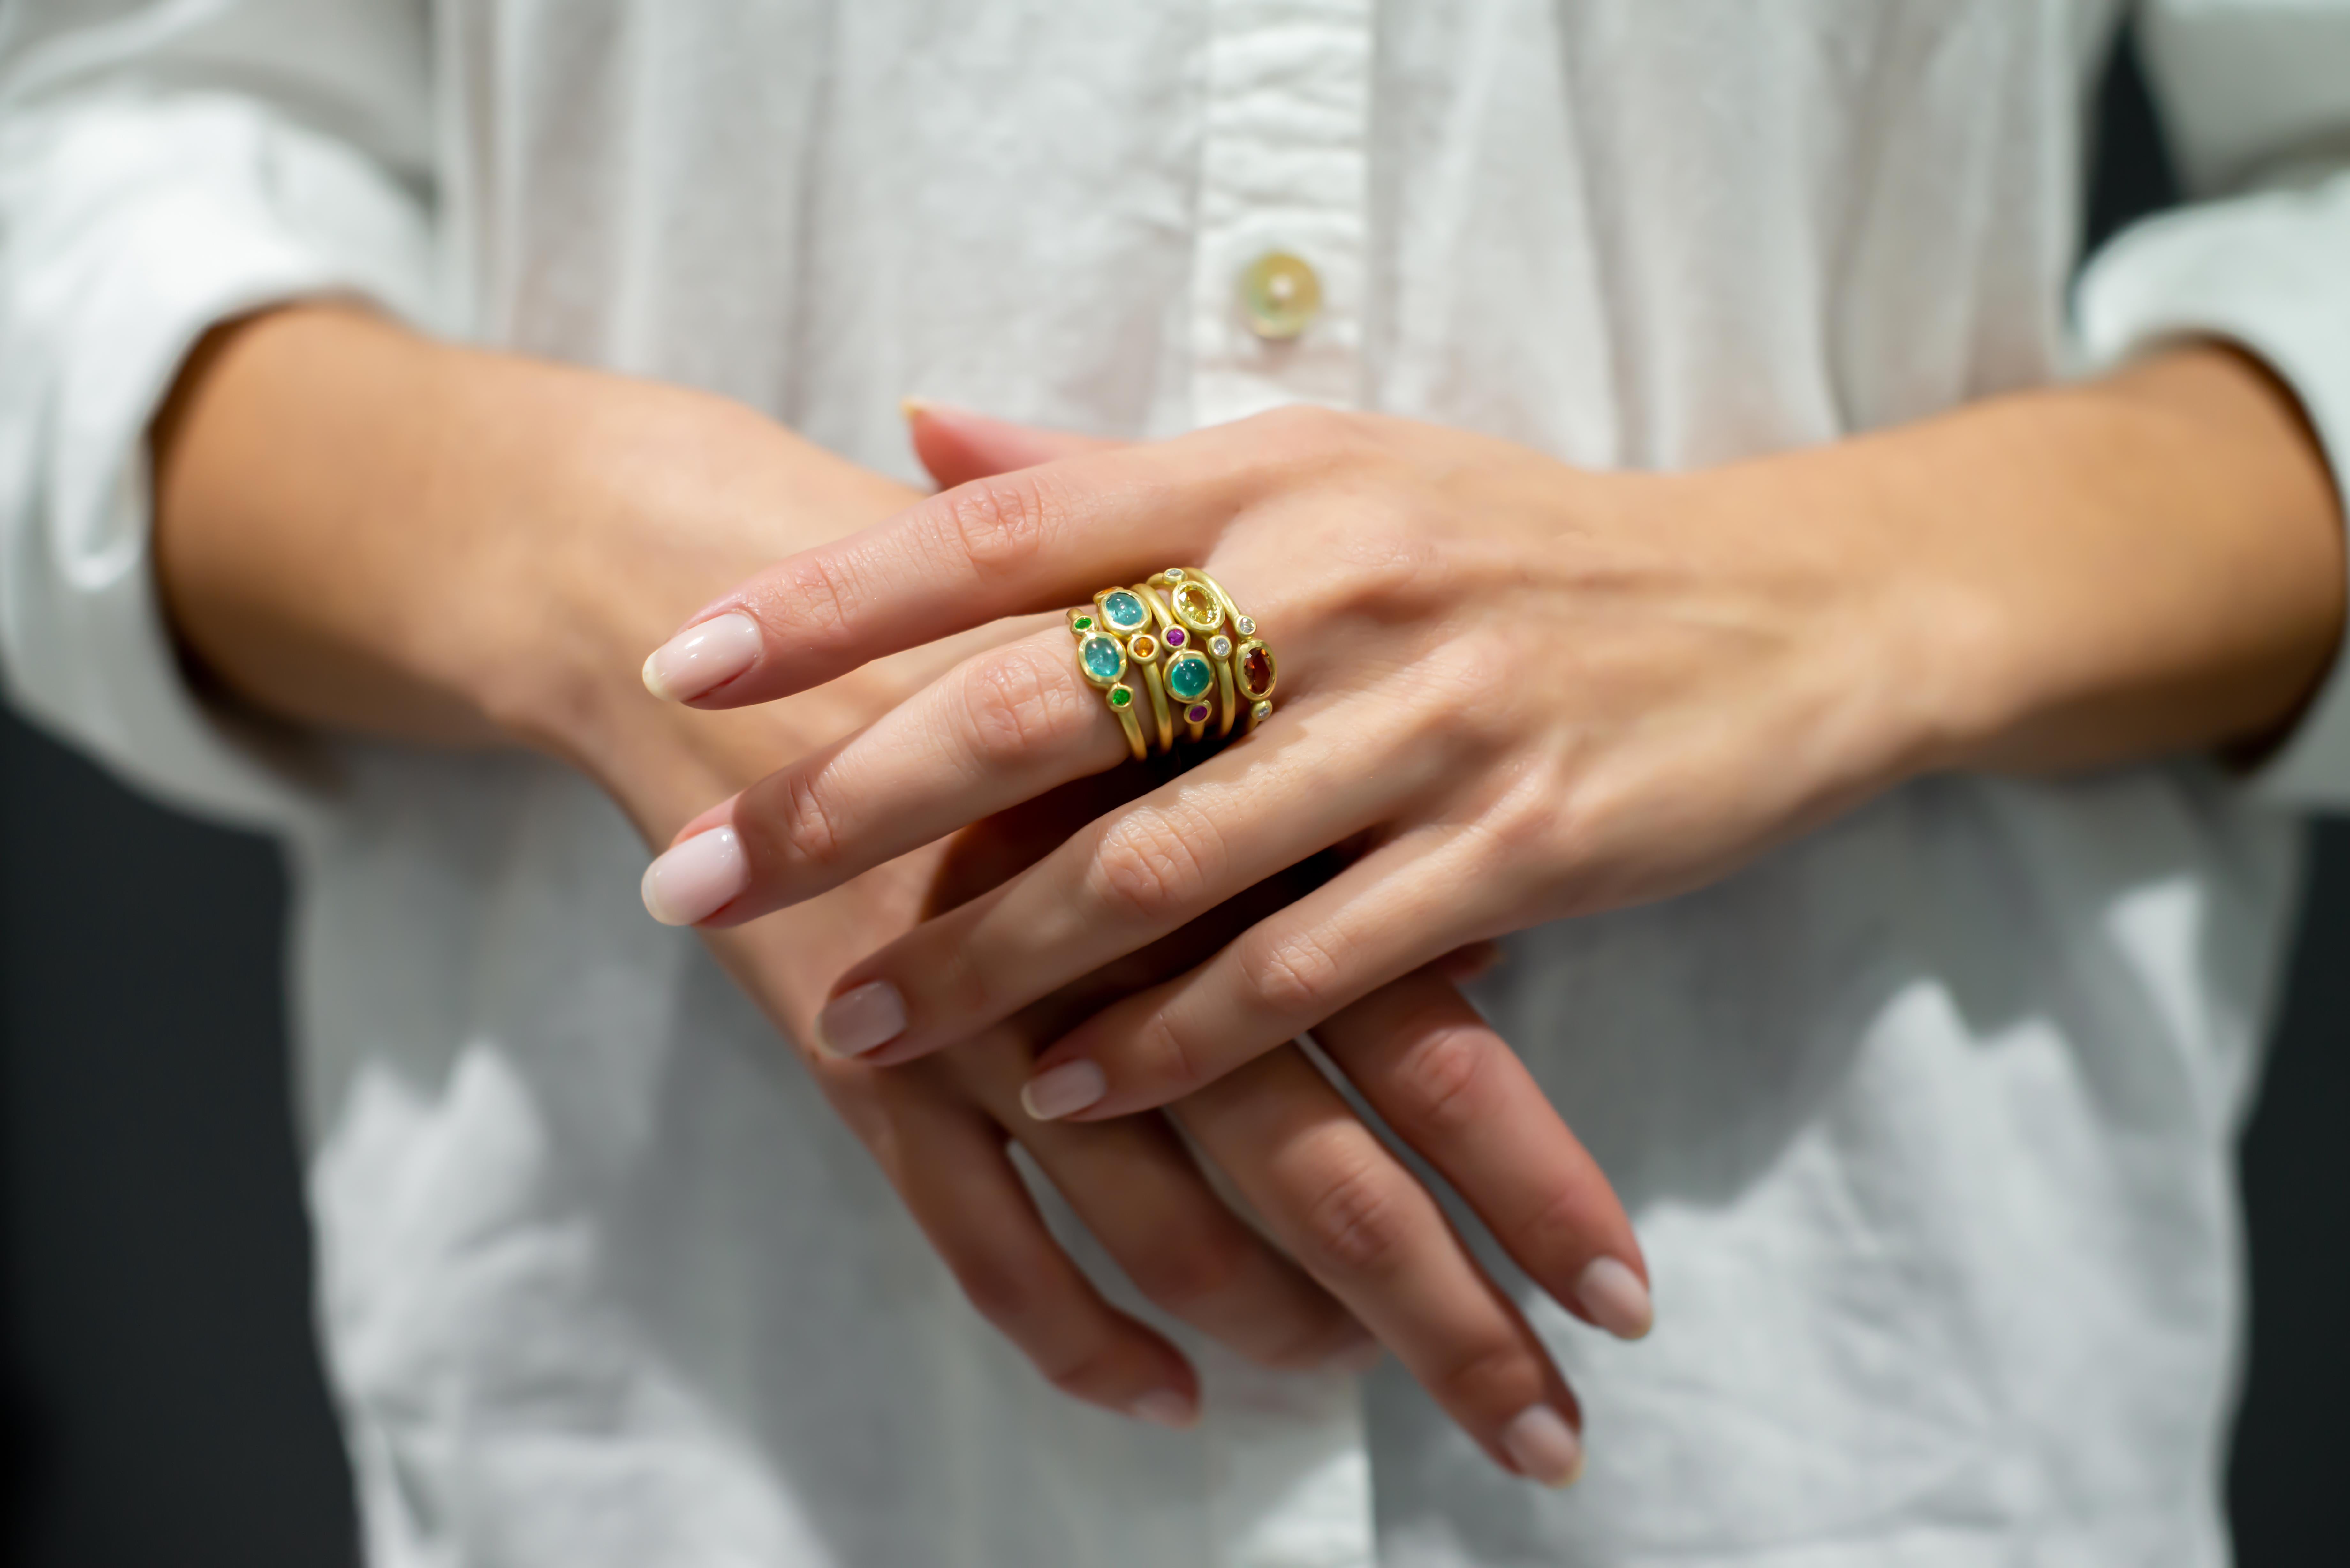
[[[2291,390],[2350,496],[2350,5],[2167,0],[2148,75],[2190,207],[2113,240],[2082,275],[2094,367],[2223,339]],[[2251,778],[2280,804],[2350,806],[2350,658]]]

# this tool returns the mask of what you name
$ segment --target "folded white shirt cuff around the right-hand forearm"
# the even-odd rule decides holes
[[[2350,496],[2350,174],[2186,207],[2127,230],[2082,277],[2080,334],[2096,369],[2176,339],[2223,339],[2294,393]],[[2291,806],[2350,806],[2350,658],[2251,790]]]

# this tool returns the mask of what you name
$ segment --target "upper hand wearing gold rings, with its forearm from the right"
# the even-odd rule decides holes
[[[740,661],[682,696],[757,703],[1175,564],[1257,618],[1276,712],[851,966],[837,1048],[954,1044],[1340,849],[1344,872],[1086,1020],[1027,1088],[1041,1117],[1163,1105],[1448,950],[1690,889],[1911,773],[2270,733],[2341,623],[2291,402],[2197,348],[1687,477],[1325,411],[1086,454],[714,602],[696,628],[731,623]],[[710,813],[738,875],[679,914],[790,905],[1121,755],[1067,632],[1039,632]]]

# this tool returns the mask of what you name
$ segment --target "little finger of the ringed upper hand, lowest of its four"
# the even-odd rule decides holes
[[[1476,938],[1483,856],[1431,844],[1438,832],[1379,846],[1206,964],[1081,1023],[1036,1058],[1020,1091],[1029,1114],[1095,1121],[1166,1105]]]

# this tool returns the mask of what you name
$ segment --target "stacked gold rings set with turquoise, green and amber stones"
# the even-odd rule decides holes
[[[1104,588],[1069,611],[1076,668],[1100,689],[1140,762],[1149,741],[1253,731],[1274,710],[1278,665],[1224,585],[1198,567],[1168,567],[1133,588]],[[1140,691],[1135,689],[1140,675]],[[1149,733],[1144,731],[1149,717]]]

